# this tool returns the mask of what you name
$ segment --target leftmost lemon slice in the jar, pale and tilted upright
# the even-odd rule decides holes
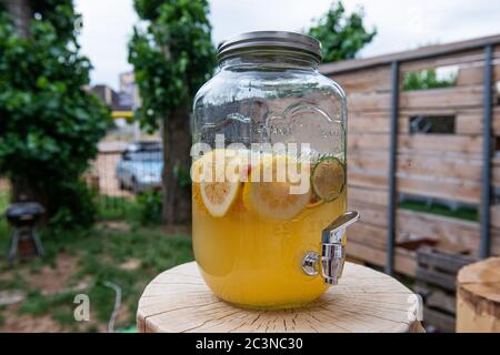
[[[201,159],[201,168],[194,166],[201,170],[199,180],[201,201],[214,217],[226,215],[240,191],[239,173],[236,171],[230,176],[226,173],[227,168],[234,163],[234,159],[238,156],[228,156],[224,151],[212,151]]]

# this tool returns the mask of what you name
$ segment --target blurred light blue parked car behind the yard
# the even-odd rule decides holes
[[[136,142],[127,146],[117,163],[120,189],[140,194],[161,187],[163,152],[159,142]]]

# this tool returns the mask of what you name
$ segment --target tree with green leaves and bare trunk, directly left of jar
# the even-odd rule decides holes
[[[216,65],[207,0],[136,0],[144,27],[129,43],[142,106],[142,126],[161,128],[164,152],[163,221],[190,214],[190,193],[180,172],[189,171],[189,106]]]

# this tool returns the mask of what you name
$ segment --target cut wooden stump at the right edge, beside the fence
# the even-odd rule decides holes
[[[490,257],[460,270],[457,332],[500,333],[500,257]]]

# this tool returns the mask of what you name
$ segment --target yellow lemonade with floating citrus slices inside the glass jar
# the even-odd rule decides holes
[[[198,174],[203,159],[207,155],[193,162]],[[283,155],[268,159],[283,160],[289,161]],[[346,212],[344,165],[337,158],[318,159],[307,166],[310,187],[291,194],[288,180],[256,181],[251,171],[268,169],[259,164],[240,169],[233,182],[193,179],[194,256],[206,283],[224,301],[250,307],[299,306],[328,288],[321,275],[304,274],[302,258],[309,251],[321,254],[322,230]]]

